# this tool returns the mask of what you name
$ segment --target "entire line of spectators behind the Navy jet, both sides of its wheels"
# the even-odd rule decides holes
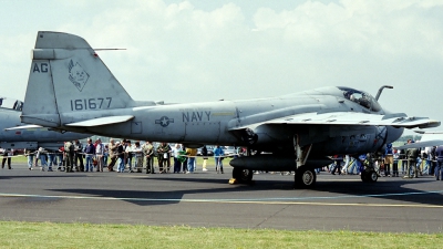
[[[414,143],[408,141],[408,144]],[[182,144],[171,146],[167,143],[135,142],[122,139],[110,139],[110,143],[102,143],[97,138],[92,143],[86,139],[83,146],[80,141],[65,142],[59,151],[48,151],[40,147],[38,151],[28,149],[24,152],[28,157],[28,167],[41,166],[41,170],[70,172],[109,172],[117,173],[142,173],[155,174],[154,164],[157,163],[158,173],[185,173],[192,174],[196,169],[196,148],[185,148]],[[223,174],[223,159],[225,152],[223,146],[217,145],[214,151],[214,160],[217,174]],[[203,168],[207,170],[208,151],[206,146],[202,148]],[[11,169],[11,156],[13,149],[3,152],[2,168],[8,162]],[[323,168],[317,168],[317,174],[328,172],[332,175],[361,175],[367,167],[372,167],[379,176],[418,178],[422,175],[433,175],[436,180],[443,180],[443,146],[424,148],[396,149],[392,144],[388,144],[384,153],[379,155],[336,155],[333,163]],[[173,163],[173,165],[171,165]],[[48,168],[48,169],[47,169]],[[391,170],[392,169],[392,170]],[[258,172],[257,172],[258,173]],[[257,174],[256,173],[256,174]]]

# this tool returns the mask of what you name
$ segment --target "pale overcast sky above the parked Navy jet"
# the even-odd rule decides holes
[[[443,0],[0,4],[1,95],[24,98],[30,51],[45,30],[126,49],[99,55],[134,100],[240,100],[329,85],[375,95],[388,84],[383,107],[443,121]]]

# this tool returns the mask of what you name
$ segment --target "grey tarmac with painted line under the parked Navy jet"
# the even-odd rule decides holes
[[[321,173],[315,189],[293,176],[254,175],[229,185],[214,168],[195,174],[0,169],[1,220],[159,226],[442,232],[443,181]]]

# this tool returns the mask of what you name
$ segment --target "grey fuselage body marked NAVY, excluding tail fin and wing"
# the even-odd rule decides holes
[[[62,123],[100,116],[100,112],[65,113]],[[246,145],[230,129],[259,124],[272,118],[316,112],[369,112],[338,96],[299,93],[281,97],[248,101],[218,101],[110,110],[106,115],[133,115],[134,120],[111,126],[90,127],[87,133],[184,144]],[[380,111],[379,114],[384,114]],[[72,128],[72,127],[71,127]],[[403,128],[360,125],[260,125],[251,148],[262,151],[293,149],[293,135],[300,144],[313,144],[312,154],[331,155],[373,152],[399,138]],[[293,151],[292,151],[293,152]]]

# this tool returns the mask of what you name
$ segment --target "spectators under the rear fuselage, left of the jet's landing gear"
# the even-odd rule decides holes
[[[135,142],[110,139],[102,143],[97,138],[94,143],[91,138],[83,145],[80,141],[65,142],[58,151],[49,151],[40,147],[37,151],[24,151],[28,157],[28,168],[32,170],[40,166],[42,172],[63,170],[71,172],[109,172],[155,174],[154,165],[158,173],[192,174],[196,170],[197,148],[185,148],[182,144],[171,146],[167,143],[151,143],[148,141]],[[207,172],[208,151],[202,148],[203,172]],[[216,172],[223,174],[223,159],[225,153],[223,146],[214,149]],[[9,157],[10,160],[10,157]],[[172,165],[173,164],[173,165]],[[56,168],[56,169],[55,169]]]

